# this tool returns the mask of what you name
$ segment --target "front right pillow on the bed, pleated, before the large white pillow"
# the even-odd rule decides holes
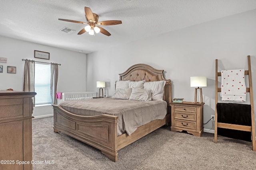
[[[143,88],[132,88],[129,100],[150,101],[152,100],[151,91]]]

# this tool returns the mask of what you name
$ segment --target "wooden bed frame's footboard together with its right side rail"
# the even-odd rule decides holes
[[[118,160],[118,150],[170,122],[170,114],[167,114],[162,120],[156,119],[138,127],[130,136],[126,133],[117,136],[118,116],[108,114],[80,116],[63,109],[59,105],[52,106],[54,109],[53,128],[55,133],[65,133],[95,147],[114,162]]]

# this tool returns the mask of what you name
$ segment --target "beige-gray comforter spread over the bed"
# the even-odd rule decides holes
[[[77,115],[110,114],[118,116],[117,135],[131,135],[138,127],[155,119],[164,119],[167,113],[165,101],[141,102],[112,98],[65,101],[64,109]]]

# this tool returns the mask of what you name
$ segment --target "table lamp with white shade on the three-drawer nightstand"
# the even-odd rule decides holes
[[[202,96],[202,88],[199,87],[206,87],[207,86],[207,78],[205,76],[195,76],[190,77],[190,87],[197,87],[195,88],[195,103],[202,103],[203,96]],[[198,91],[200,92],[200,102],[199,98],[197,99]]]

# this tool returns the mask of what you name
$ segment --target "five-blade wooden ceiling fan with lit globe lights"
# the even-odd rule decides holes
[[[92,13],[92,10],[89,7],[84,7],[84,12],[85,12],[85,18],[87,22],[66,20],[66,19],[60,19],[60,18],[59,20],[86,24],[87,26],[81,29],[81,31],[78,32],[78,35],[81,35],[82,33],[85,33],[87,31],[89,32],[90,35],[94,35],[94,32],[95,33],[101,32],[104,35],[110,36],[111,34],[106,29],[96,25],[117,25],[122,23],[122,21],[118,21],[118,20],[98,22],[99,16],[97,14]]]

